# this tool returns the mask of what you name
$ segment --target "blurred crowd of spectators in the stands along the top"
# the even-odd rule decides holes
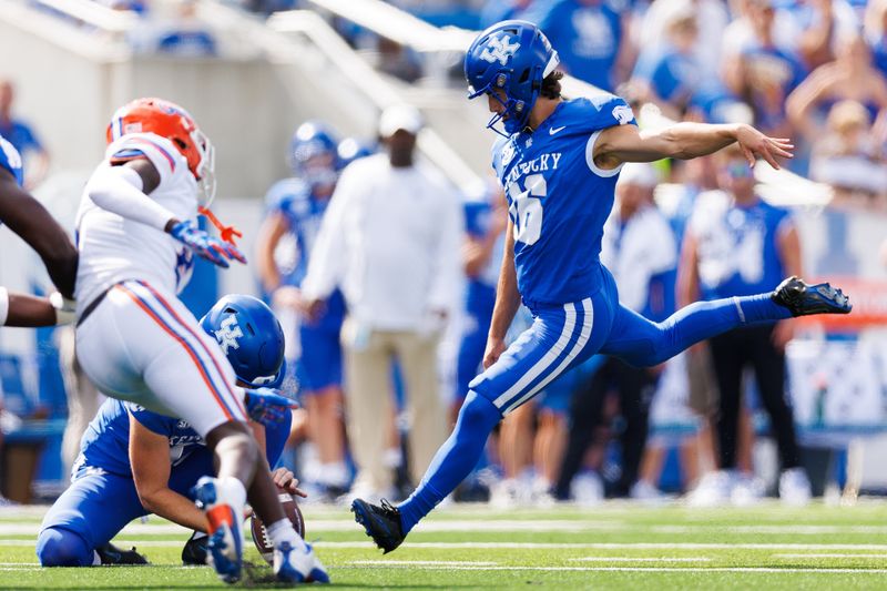
[[[139,16],[130,41],[140,51],[224,53],[224,34],[201,18],[197,0],[95,1]],[[258,14],[315,8],[305,0],[226,3]],[[652,102],[675,120],[742,121],[792,137],[793,172],[828,183],[842,202],[887,211],[887,0],[391,3],[439,26],[537,22],[571,75],[639,104]],[[408,48],[335,24],[351,44],[375,52],[383,71],[408,82],[422,75],[421,57]],[[453,82],[460,77],[455,71]]]

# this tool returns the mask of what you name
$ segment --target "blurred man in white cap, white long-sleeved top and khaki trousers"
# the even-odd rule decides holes
[[[437,353],[461,294],[463,221],[455,190],[415,156],[422,125],[412,106],[386,109],[379,121],[386,150],[343,172],[303,283],[308,316],[336,286],[345,294],[348,438],[358,469],[351,490],[361,497],[391,490],[384,451],[395,359],[406,383],[416,483],[447,437]]]

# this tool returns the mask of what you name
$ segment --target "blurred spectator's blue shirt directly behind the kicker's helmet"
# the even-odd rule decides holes
[[[542,29],[567,73],[612,91],[628,74],[629,8],[628,0],[555,0],[520,18]]]

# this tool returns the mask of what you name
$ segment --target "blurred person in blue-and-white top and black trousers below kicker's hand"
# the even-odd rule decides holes
[[[686,300],[743,296],[778,285],[781,277],[799,274],[801,241],[787,210],[762,201],[742,152],[728,146],[717,156],[721,191],[704,193],[684,236],[679,294]],[[742,375],[754,369],[761,401],[778,444],[783,475],[779,496],[791,503],[809,499],[809,481],[801,468],[792,408],[785,396],[785,345],[791,320],[745,326],[708,340],[720,390],[715,419],[720,475],[708,479],[711,502],[737,490],[759,496],[748,475],[736,470]],[[705,481],[704,481],[705,482]]]

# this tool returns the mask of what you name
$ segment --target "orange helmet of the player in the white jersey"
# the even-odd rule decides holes
[[[105,135],[110,144],[129,133],[154,133],[170,140],[201,186],[201,204],[210,205],[215,196],[215,149],[187,111],[163,99],[136,99],[118,109]]]

